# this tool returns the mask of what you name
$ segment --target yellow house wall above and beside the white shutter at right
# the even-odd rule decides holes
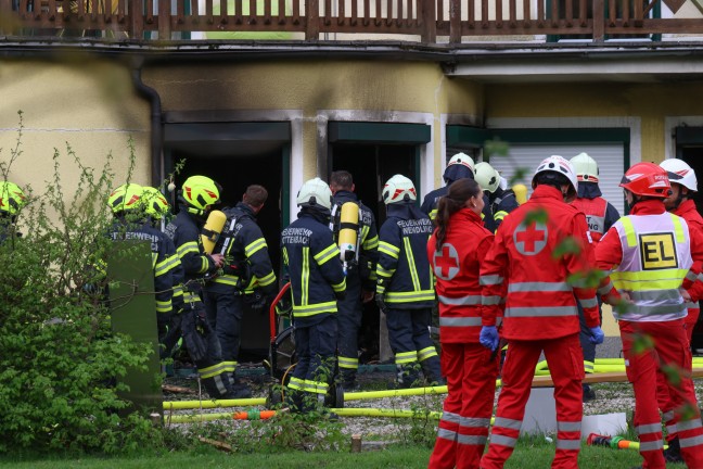
[[[659,163],[665,155],[665,118],[701,115],[703,81],[487,85],[485,101],[486,118],[640,117],[642,154],[632,160]]]

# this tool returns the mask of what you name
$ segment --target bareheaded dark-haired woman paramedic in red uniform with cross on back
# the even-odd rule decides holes
[[[494,240],[481,220],[483,195],[477,181],[453,181],[439,200],[437,228],[427,243],[448,388],[430,469],[477,468],[488,438],[500,356],[478,342],[478,272]]]

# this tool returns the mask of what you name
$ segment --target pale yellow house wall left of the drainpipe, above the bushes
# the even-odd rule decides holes
[[[79,172],[66,151],[69,144],[84,165],[98,169],[112,153],[115,179],[122,183],[131,137],[137,164],[133,179],[150,182],[150,107],[135,93],[127,68],[88,58],[61,64],[3,61],[0,97],[0,161],[4,163],[16,148],[17,112],[23,113],[22,154],[12,164],[10,180],[41,193],[43,182],[53,178],[56,149],[62,185],[71,191]]]

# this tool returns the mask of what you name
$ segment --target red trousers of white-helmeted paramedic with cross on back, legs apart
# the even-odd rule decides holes
[[[575,333],[559,339],[509,341],[490,444],[481,459],[483,469],[502,468],[515,448],[535,366],[542,350],[554,382],[557,401],[557,453],[551,467],[578,468],[585,373],[584,354],[578,333]]]

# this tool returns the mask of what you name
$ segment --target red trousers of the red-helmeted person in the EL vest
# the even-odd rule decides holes
[[[635,430],[640,440],[643,468],[664,469],[666,464],[662,449],[662,421],[659,414],[657,395],[668,395],[670,416],[668,424],[675,424],[679,436],[681,455],[689,469],[703,469],[703,426],[695,401],[695,389],[690,377],[683,376],[691,369],[691,351],[683,328],[683,319],[665,322],[619,321],[623,353],[627,378],[635,391]],[[641,337],[649,335],[653,348],[636,352],[635,344]],[[644,342],[640,342],[644,343]],[[677,369],[678,384],[657,380],[662,366]],[[669,418],[670,417],[670,418]]]

